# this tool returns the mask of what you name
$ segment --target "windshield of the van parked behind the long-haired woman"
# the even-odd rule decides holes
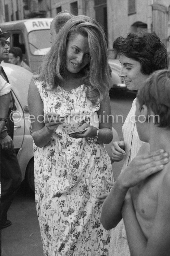
[[[45,55],[51,48],[49,29],[34,30],[28,34],[28,43],[33,55]]]

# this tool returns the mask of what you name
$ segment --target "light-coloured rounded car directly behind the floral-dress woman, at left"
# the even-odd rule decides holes
[[[10,63],[1,63],[12,85],[16,111],[14,119],[14,148],[22,172],[22,180],[26,178],[29,187],[34,191],[33,142],[29,133],[28,87],[32,73],[23,67]]]

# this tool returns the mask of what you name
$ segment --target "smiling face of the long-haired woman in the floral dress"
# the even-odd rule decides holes
[[[87,37],[74,34],[68,40],[66,48],[66,68],[70,73],[78,73],[90,62]]]

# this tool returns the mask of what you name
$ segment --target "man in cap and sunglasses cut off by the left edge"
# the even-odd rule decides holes
[[[9,37],[10,33],[2,33],[0,29],[0,62],[8,58],[9,42],[6,40]],[[12,140],[14,123],[10,114],[15,109],[15,101],[2,66],[0,75],[1,228],[6,228],[11,225],[11,221],[7,219],[7,211],[21,184],[21,170]]]

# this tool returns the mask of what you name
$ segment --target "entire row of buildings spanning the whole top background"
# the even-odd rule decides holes
[[[112,43],[129,32],[155,32],[170,52],[170,0],[0,0],[1,22],[55,17],[60,11],[88,15],[103,25],[109,55]]]

